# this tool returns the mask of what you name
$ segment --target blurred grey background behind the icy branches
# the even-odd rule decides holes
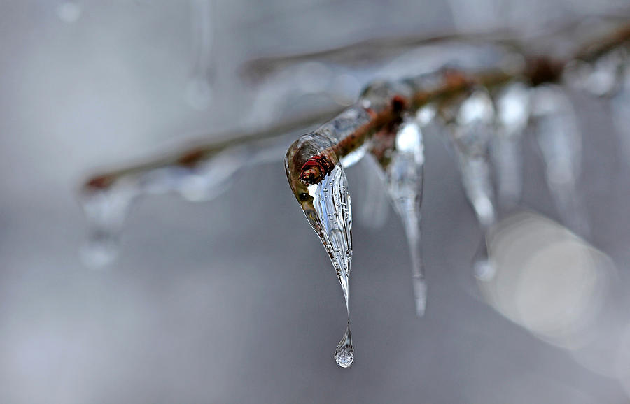
[[[290,194],[283,151],[211,201],[139,200],[118,259],[102,270],[80,259],[78,203],[81,182],[102,168],[348,105],[388,66],[397,71],[402,51],[273,68],[253,59],[397,36],[510,28],[526,37],[627,6],[3,1],[0,402],[630,402],[630,157],[608,100],[571,97],[590,232],[557,224],[526,138],[527,211],[488,236],[500,263],[491,282],[472,276],[483,235],[454,157],[425,139],[423,318],[402,226],[393,212],[381,227],[360,218],[365,168],[349,168],[349,369],[332,360],[345,322],[339,284]]]

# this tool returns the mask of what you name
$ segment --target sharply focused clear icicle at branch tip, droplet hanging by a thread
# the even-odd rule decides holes
[[[329,138],[304,135],[289,147],[285,164],[291,188],[300,201],[304,215],[328,252],[344,293],[348,325],[335,351],[335,361],[342,368],[347,368],[354,359],[349,311],[352,212],[348,180],[344,168],[334,156],[322,156],[318,159],[321,163],[318,169],[325,168],[320,182],[307,185],[300,178],[304,156],[311,155],[314,151],[321,152],[330,144]]]

